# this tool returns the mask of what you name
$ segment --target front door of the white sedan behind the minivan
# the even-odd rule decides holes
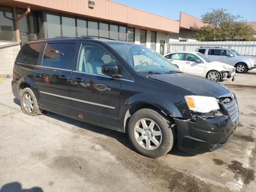
[[[203,76],[205,64],[198,63],[196,62],[197,60],[200,60],[200,58],[198,58],[194,54],[187,53],[183,71],[193,75]]]

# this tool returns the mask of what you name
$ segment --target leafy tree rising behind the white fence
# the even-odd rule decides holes
[[[239,15],[232,15],[226,9],[212,9],[202,15],[205,26],[198,29],[199,41],[255,41],[254,29]]]

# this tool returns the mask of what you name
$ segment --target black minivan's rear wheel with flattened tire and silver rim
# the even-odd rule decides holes
[[[41,115],[42,110],[39,109],[38,102],[31,88],[24,88],[20,91],[20,107],[22,112],[27,115]]]

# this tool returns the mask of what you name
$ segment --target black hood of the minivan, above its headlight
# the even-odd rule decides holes
[[[186,73],[150,74],[148,76],[154,80],[188,90],[195,95],[220,98],[230,93],[228,88],[217,82]]]

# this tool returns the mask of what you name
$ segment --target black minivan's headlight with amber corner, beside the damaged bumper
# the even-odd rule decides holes
[[[220,109],[218,101],[214,97],[206,96],[185,96],[188,108],[195,112],[208,113]]]

